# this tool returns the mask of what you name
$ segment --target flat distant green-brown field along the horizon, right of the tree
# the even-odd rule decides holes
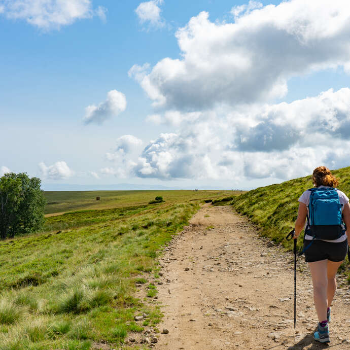
[[[82,209],[108,209],[147,204],[156,196],[171,203],[215,199],[239,194],[240,191],[45,191],[45,214],[65,213]],[[100,200],[96,200],[100,197]]]

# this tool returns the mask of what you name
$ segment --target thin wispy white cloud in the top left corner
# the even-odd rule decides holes
[[[90,0],[3,0],[0,13],[9,19],[23,19],[40,29],[59,29],[79,19],[98,16],[106,20],[107,10],[93,9]],[[1,11],[2,10],[2,11]]]

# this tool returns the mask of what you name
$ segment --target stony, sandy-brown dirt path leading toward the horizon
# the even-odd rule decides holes
[[[311,280],[299,258],[295,334],[293,255],[259,238],[229,206],[201,208],[160,264],[158,328],[169,333],[157,349],[350,349],[348,287],[336,292],[330,346],[315,343]]]

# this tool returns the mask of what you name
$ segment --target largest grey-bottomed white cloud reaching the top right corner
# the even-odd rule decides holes
[[[201,12],[180,28],[181,58],[130,69],[154,106],[197,111],[271,101],[286,95],[291,77],[350,66],[349,2],[250,2],[232,11],[233,23]]]

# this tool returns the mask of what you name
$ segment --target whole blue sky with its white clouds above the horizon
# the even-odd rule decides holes
[[[347,166],[349,9],[0,0],[0,174],[252,188]]]

